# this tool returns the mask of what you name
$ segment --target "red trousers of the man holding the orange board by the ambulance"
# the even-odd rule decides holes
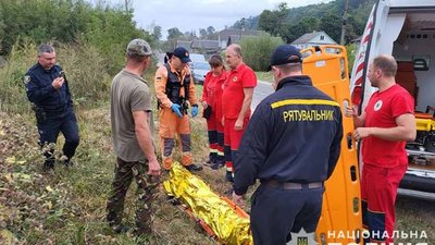
[[[397,188],[407,167],[407,164],[395,168],[363,166],[361,177],[362,225],[370,232],[369,242],[394,242]]]

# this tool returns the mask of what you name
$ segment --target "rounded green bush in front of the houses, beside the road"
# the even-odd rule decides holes
[[[244,62],[254,71],[268,71],[273,50],[282,44],[279,37],[269,35],[244,37],[240,40]]]

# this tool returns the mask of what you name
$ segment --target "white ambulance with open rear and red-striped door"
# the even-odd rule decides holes
[[[360,111],[375,91],[366,74],[378,54],[396,58],[396,82],[415,101],[417,139],[407,144],[409,168],[399,194],[435,200],[435,1],[378,0],[374,4],[350,78],[351,102]]]

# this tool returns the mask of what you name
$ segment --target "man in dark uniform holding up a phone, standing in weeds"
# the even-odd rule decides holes
[[[65,137],[62,160],[71,164],[78,146],[78,126],[70,86],[62,68],[55,64],[55,51],[50,45],[38,47],[38,63],[24,76],[27,98],[36,112],[39,146],[46,160],[44,169],[54,168],[54,147],[59,132]]]

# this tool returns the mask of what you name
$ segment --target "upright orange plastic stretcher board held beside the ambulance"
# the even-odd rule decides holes
[[[346,49],[325,45],[301,50],[302,73],[313,85],[331,96],[344,108],[351,106],[349,71]],[[360,174],[356,142],[352,139],[353,121],[343,117],[344,137],[341,152],[333,175],[325,183],[322,215],[316,229],[319,244],[362,244],[362,213]]]

